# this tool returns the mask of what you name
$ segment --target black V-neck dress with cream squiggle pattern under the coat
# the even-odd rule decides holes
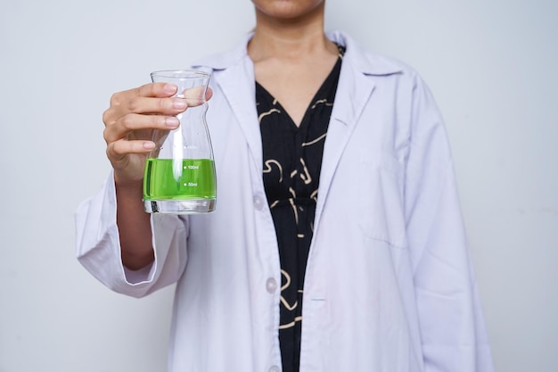
[[[302,295],[322,154],[341,71],[339,59],[316,92],[300,127],[281,103],[256,82],[256,102],[264,158],[264,186],[275,224],[281,260],[279,343],[283,372],[299,370]]]

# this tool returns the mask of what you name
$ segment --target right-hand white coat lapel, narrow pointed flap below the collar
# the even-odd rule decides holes
[[[348,50],[349,54],[349,50]],[[373,93],[374,83],[370,77],[347,61],[350,56],[345,55],[341,65],[341,76],[335,94],[332,116],[327,130],[324,144],[320,186],[316,205],[315,230],[327,203],[327,195],[335,176],[335,170],[341,159],[341,154],[349,141],[349,137],[357,124],[366,103]]]

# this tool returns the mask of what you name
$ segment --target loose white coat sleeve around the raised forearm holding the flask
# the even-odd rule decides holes
[[[174,215],[152,215],[152,265],[136,271],[127,269],[120,258],[116,224],[116,193],[113,176],[94,197],[76,212],[77,256],[79,262],[104,285],[133,297],[173,284],[186,264],[187,219]]]

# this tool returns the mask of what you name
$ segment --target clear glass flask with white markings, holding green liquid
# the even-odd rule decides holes
[[[178,128],[153,131],[155,148],[145,161],[144,210],[176,214],[215,211],[215,162],[205,115],[210,75],[198,70],[162,70],[151,76],[153,82],[175,84],[175,97],[185,99],[188,108],[176,115]]]

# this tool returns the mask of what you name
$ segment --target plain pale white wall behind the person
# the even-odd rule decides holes
[[[326,8],[326,29],[410,64],[437,97],[496,369],[558,370],[558,3]],[[0,372],[165,369],[172,288],[104,288],[75,260],[73,214],[109,170],[111,94],[253,25],[249,0],[2,0]]]

